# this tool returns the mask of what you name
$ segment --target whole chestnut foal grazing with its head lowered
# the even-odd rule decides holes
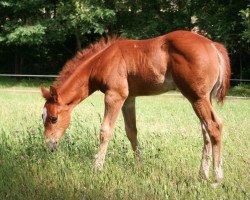
[[[200,174],[209,176],[210,157],[217,183],[222,171],[222,121],[211,104],[223,102],[229,88],[230,62],[223,45],[188,31],[148,40],[101,39],[69,60],[50,90],[41,87],[45,138],[55,150],[69,126],[72,109],[96,90],[105,94],[100,149],[95,167],[102,169],[115,121],[122,110],[128,139],[139,158],[135,97],[178,88],[200,119],[204,147]]]

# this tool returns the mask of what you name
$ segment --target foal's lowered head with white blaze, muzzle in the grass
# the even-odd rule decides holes
[[[41,87],[41,91],[46,100],[42,113],[45,140],[49,150],[55,151],[69,126],[72,108],[63,103],[60,94],[53,86],[50,90]]]

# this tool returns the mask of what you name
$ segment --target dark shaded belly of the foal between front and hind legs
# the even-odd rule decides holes
[[[176,85],[171,75],[149,80],[140,77],[129,78],[129,96],[157,95],[174,89]]]

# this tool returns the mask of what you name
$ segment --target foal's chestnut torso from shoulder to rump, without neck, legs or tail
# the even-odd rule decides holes
[[[93,74],[103,88],[127,88],[129,96],[160,94],[183,84],[193,87],[197,78],[195,87],[206,85],[207,91],[218,77],[218,61],[211,59],[217,58],[212,43],[188,31],[117,41],[95,60]],[[202,80],[210,73],[211,80]]]

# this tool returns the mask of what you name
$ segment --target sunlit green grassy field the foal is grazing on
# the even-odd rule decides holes
[[[224,120],[225,179],[213,189],[198,179],[203,140],[190,104],[182,97],[137,99],[142,163],[134,163],[120,115],[104,170],[93,170],[103,95],[73,112],[55,153],[46,149],[37,85],[0,86],[0,199],[250,199],[250,100],[217,106]],[[9,89],[30,92],[11,92]]]

